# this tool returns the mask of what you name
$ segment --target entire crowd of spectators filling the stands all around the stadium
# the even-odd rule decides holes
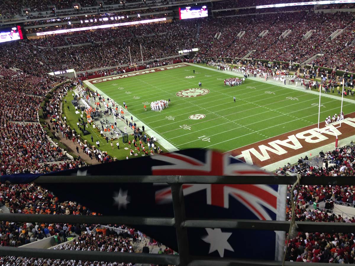
[[[9,1],[12,2],[12,1]],[[129,2],[129,1],[127,1]],[[163,1],[164,2],[164,1]],[[239,1],[244,6],[275,3],[275,1]],[[18,5],[13,2],[12,7],[6,7],[7,12],[16,12]],[[68,1],[25,1],[38,10],[44,10],[47,5],[55,3],[60,8],[68,8]],[[87,5],[94,5],[88,2]],[[109,4],[115,4],[111,1]],[[2,10],[3,4],[0,5]],[[225,1],[215,4],[215,9],[233,8],[235,2]],[[4,8],[6,13],[6,9]],[[345,15],[345,16],[343,16]],[[331,68],[355,70],[354,55],[354,27],[353,15],[349,13],[306,13],[298,12],[290,17],[287,14],[277,16],[246,16],[238,21],[229,18],[205,19],[201,22],[185,21],[162,23],[134,28],[104,29],[90,31],[85,35],[55,35],[47,39],[28,40],[21,43],[5,44],[0,48],[3,59],[0,66],[0,173],[48,173],[70,168],[80,168],[86,165],[81,159],[75,159],[56,164],[55,159],[65,157],[64,152],[56,147],[45,131],[37,122],[37,112],[40,103],[53,85],[61,81],[60,78],[48,76],[46,73],[56,69],[74,68],[76,71],[86,71],[93,68],[117,66],[130,62],[127,46],[130,46],[133,61],[140,59],[140,44],[144,59],[157,59],[164,56],[176,55],[178,50],[200,48],[198,56],[206,57],[242,57],[251,50],[258,59],[297,61],[307,59],[316,51],[323,51],[324,56],[316,59],[315,64]],[[216,23],[216,20],[219,23]],[[301,26],[300,26],[301,25]],[[327,40],[336,29],[343,29],[346,38]],[[291,34],[285,39],[279,39],[286,29],[292,29]],[[302,40],[302,36],[310,29],[316,29],[311,38]],[[258,35],[268,30],[264,38]],[[246,31],[241,38],[235,39],[240,31]],[[218,39],[215,34],[222,33]],[[164,33],[159,35],[159,33]],[[153,37],[144,35],[155,34]],[[198,35],[198,39],[196,38]],[[94,46],[79,46],[69,49],[38,49],[33,45],[57,47],[65,42],[64,36],[70,44],[80,44],[83,41],[107,41]],[[144,36],[138,37],[138,36]],[[231,38],[231,36],[233,36]],[[341,36],[340,36],[341,37]],[[324,50],[326,49],[326,50]],[[18,52],[18,51],[22,52]],[[53,56],[55,54],[55,56]],[[16,56],[9,56],[16,55]],[[162,62],[160,62],[162,63]],[[152,63],[159,64],[157,62]],[[228,65],[209,61],[208,65],[216,65],[219,69],[230,68]],[[18,70],[10,69],[16,67]],[[288,66],[284,66],[286,69]],[[291,65],[290,65],[291,67]],[[265,67],[261,62],[257,65],[231,67],[232,70],[263,78],[273,75],[273,70]],[[114,71],[124,71],[117,68]],[[97,72],[107,73],[110,72]],[[82,74],[85,76],[86,74]],[[335,77],[333,76],[333,79]],[[227,79],[226,85],[238,84],[240,79]],[[54,129],[56,134],[76,141],[72,131],[64,130],[59,120],[59,106],[62,96],[70,90],[67,85],[62,85],[52,95],[43,107],[45,117],[50,118],[48,127]],[[166,102],[168,104],[168,102]],[[23,122],[25,121],[25,122]],[[135,131],[138,135],[138,131]],[[142,134],[141,134],[142,135]],[[81,147],[86,151],[87,147]],[[315,176],[353,176],[355,171],[355,147],[348,145],[323,153],[320,157],[325,162],[324,166],[310,165],[308,158],[300,158],[295,165],[281,167],[277,174],[315,175]],[[96,156],[95,156],[96,157]],[[101,160],[102,158],[102,160]],[[97,157],[100,161],[110,161],[109,156]],[[290,189],[290,187],[289,187]],[[353,186],[302,186],[299,194],[288,192],[287,219],[290,219],[290,200],[296,198],[296,220],[318,222],[355,222],[354,217],[339,217],[331,214],[332,201],[342,201],[344,204],[355,203]],[[0,185],[0,201],[10,212],[25,214],[62,214],[62,215],[97,215],[75,202],[61,203],[48,190],[34,184],[26,185]],[[322,210],[319,204],[325,202]],[[314,207],[313,207],[314,206]],[[90,228],[92,229],[92,227]],[[132,228],[125,228],[131,231]],[[35,223],[0,223],[0,243],[2,246],[20,246],[43,239],[52,235],[60,242],[66,240],[70,232],[80,235],[78,241],[62,245],[61,249],[71,250],[101,250],[135,252],[130,248],[131,243],[126,238],[121,238],[114,231],[96,234],[86,233],[85,225],[65,224],[35,224]],[[84,233],[85,232],[85,233]],[[134,235],[133,235],[134,236]],[[95,238],[95,239],[94,239]],[[97,239],[96,239],[97,238]],[[341,233],[299,233],[291,239],[287,247],[287,260],[308,262],[337,262],[354,263],[354,236]],[[44,259],[15,259],[14,257],[1,257],[0,263],[6,265],[90,265],[88,262],[58,261]],[[119,263],[106,265],[122,265]]]

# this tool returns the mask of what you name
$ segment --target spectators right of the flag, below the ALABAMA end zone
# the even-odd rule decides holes
[[[302,176],[353,176],[355,171],[353,143],[333,151],[321,151],[317,157],[321,165],[310,164],[308,157],[295,165],[285,165],[275,173]],[[355,223],[354,216],[333,213],[335,204],[355,207],[355,189],[352,185],[301,185],[291,191],[288,187],[286,220],[291,219],[291,200],[295,200],[295,220],[312,222]],[[324,207],[320,207],[324,206]],[[286,261],[353,264],[355,259],[353,234],[299,232],[291,237],[286,250]]]

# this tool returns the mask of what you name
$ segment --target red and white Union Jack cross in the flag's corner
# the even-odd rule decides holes
[[[154,160],[168,163],[153,166],[154,175],[270,175],[255,166],[222,154],[217,151],[206,151],[204,161],[180,153],[169,153],[154,156]],[[206,190],[206,203],[229,208],[229,196],[238,200],[248,208],[259,220],[273,220],[267,208],[277,213],[278,192],[268,185],[245,184],[184,184],[184,196]],[[171,188],[166,187],[155,192],[155,203],[171,203]]]

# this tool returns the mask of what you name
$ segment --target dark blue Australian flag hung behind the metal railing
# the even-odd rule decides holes
[[[268,175],[228,153],[189,149],[133,160],[93,165],[50,175]],[[39,174],[2,176],[1,182],[31,183]],[[118,177],[119,178],[119,177]],[[132,177],[134,178],[134,177]],[[76,201],[102,215],[174,217],[171,189],[154,183],[41,184],[59,201]],[[187,218],[285,220],[285,185],[184,184]],[[175,228],[137,226],[178,251]],[[189,228],[191,255],[281,260],[285,233],[220,228]]]

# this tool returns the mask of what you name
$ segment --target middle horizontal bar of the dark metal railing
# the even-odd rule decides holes
[[[0,214],[1,221],[45,222],[45,223],[87,223],[87,224],[129,224],[146,226],[177,226],[182,228],[238,228],[250,230],[288,231],[290,221],[263,221],[247,219],[186,219],[178,223],[174,218],[95,216],[95,215],[38,215],[38,214]],[[298,232],[353,232],[352,223],[315,223],[296,222]]]

